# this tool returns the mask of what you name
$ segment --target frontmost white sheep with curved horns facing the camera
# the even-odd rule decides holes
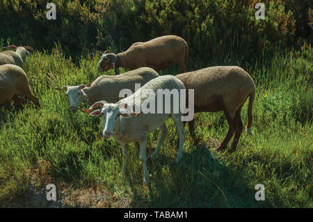
[[[162,89],[170,91],[168,91],[168,93],[158,94],[158,90]],[[179,106],[175,106],[175,102],[177,102],[178,98],[175,100],[175,98],[173,98],[175,96],[170,97],[169,100],[166,100],[168,103],[164,102],[163,100],[163,106],[161,106],[161,103],[158,103],[160,102],[158,101],[160,97],[163,97],[163,95],[169,96],[174,89],[178,90],[177,95],[179,96],[180,90],[184,89],[184,84],[182,84],[179,79],[170,75],[166,75],[152,79],[147,84],[145,84],[145,86],[141,87],[140,90],[137,90],[136,93],[120,100],[117,103],[109,104],[105,101],[99,101],[93,104],[90,109],[80,109],[85,113],[90,113],[94,108],[101,108],[93,111],[90,113],[90,115],[102,116],[104,127],[102,135],[104,138],[113,136],[115,140],[118,141],[118,143],[122,144],[122,173],[125,173],[126,171],[127,159],[129,156],[129,143],[137,141],[140,143],[141,147],[141,161],[143,163],[144,182],[147,184],[149,183],[149,173],[147,171],[146,164],[147,135],[155,129],[161,128],[159,143],[153,153],[153,157],[156,157],[168,133],[166,128],[166,120],[168,119],[168,116],[171,116],[175,121],[179,137],[179,150],[176,161],[178,162],[180,159],[182,159],[182,148],[184,146],[184,124],[181,120],[182,112],[177,109]],[[151,92],[153,95],[150,94]],[[154,111],[160,109],[160,112],[156,111],[153,113],[152,111],[144,111],[144,113],[135,113],[134,111],[130,111],[130,107],[134,109],[134,101],[137,107],[143,106],[145,102],[150,101],[150,107],[155,105]],[[158,105],[159,107],[157,107]],[[168,111],[165,111],[166,109],[168,109]],[[177,111],[175,111],[175,109],[177,109]]]

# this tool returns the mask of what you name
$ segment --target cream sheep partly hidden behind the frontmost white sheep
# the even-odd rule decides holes
[[[134,93],[135,84],[143,86],[151,79],[159,77],[159,74],[152,68],[139,68],[119,74],[116,76],[102,75],[97,77],[93,84],[79,86],[56,87],[58,90],[66,90],[68,99],[70,100],[70,109],[76,112],[81,102],[88,102],[89,105],[99,100],[107,102],[118,102],[120,100],[119,93],[122,89],[129,89]]]

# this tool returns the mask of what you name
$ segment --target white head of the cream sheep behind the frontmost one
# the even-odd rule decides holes
[[[55,87],[57,90],[66,90],[65,94],[70,101],[70,109],[74,113],[79,108],[79,104],[83,102],[83,100],[88,100],[88,96],[83,91],[83,88],[89,87],[88,85],[79,85],[79,86],[64,86],[62,88]]]

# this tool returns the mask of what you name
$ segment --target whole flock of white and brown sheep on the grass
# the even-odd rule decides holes
[[[29,80],[22,69],[25,58],[31,54],[31,47],[16,47],[10,45],[4,49],[15,49],[0,53],[0,106],[15,100],[17,104],[22,104],[21,97],[24,96],[35,102],[39,106],[36,98],[29,88]],[[152,154],[156,157],[165,141],[168,129],[166,120],[170,116],[177,127],[179,137],[178,154],[176,161],[182,158],[184,146],[184,123],[182,116],[186,113],[173,111],[174,102],[170,99],[169,113],[136,113],[129,106],[134,105],[134,101],[143,103],[150,97],[147,91],[152,91],[157,95],[158,90],[186,90],[193,89],[193,106],[197,112],[218,112],[224,111],[230,127],[227,136],[219,145],[217,150],[225,150],[232,136],[234,140],[230,147],[231,151],[236,149],[239,137],[243,131],[241,121],[241,107],[248,97],[248,124],[246,130],[253,135],[252,125],[252,104],[255,98],[255,84],[250,75],[237,66],[216,66],[188,72],[188,45],[185,40],[175,35],[166,35],[155,38],[148,42],[136,42],[127,51],[119,54],[102,54],[97,66],[100,72],[115,69],[115,76],[99,76],[92,84],[79,86],[56,87],[58,90],[65,90],[70,101],[70,109],[76,112],[78,109],[91,116],[102,116],[103,136],[109,138],[113,136],[122,145],[122,173],[126,173],[127,159],[129,157],[129,143],[137,141],[141,147],[141,161],[144,170],[144,182],[149,183],[149,173],[146,164],[146,144],[147,135],[155,129],[160,129],[161,136],[157,148]],[[175,63],[182,70],[182,74],[175,77],[172,75],[159,76],[156,72],[167,68]],[[119,74],[119,68],[131,70]],[[136,90],[135,84],[141,84],[141,90]],[[120,100],[120,91],[129,89],[135,93]],[[186,96],[188,104],[188,96]],[[81,102],[86,102],[89,109],[80,109]],[[155,106],[158,106],[157,102]],[[98,108],[98,109],[96,109]],[[95,110],[94,110],[95,109]],[[194,137],[194,122],[188,122],[191,136]]]

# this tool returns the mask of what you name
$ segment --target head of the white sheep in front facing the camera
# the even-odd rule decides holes
[[[95,108],[101,108],[93,111]],[[127,109],[124,103],[107,103],[105,101],[95,102],[89,109],[80,109],[84,113],[90,113],[91,116],[102,116],[104,138],[109,138],[115,133],[116,123],[120,120],[120,116],[125,118],[136,117],[141,113],[134,113]]]

